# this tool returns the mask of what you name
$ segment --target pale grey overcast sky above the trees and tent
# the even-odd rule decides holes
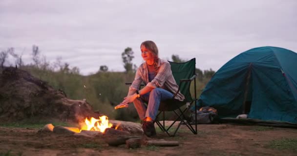
[[[297,0],[0,0],[0,50],[14,47],[25,63],[35,44],[83,75],[124,71],[121,53],[131,47],[139,66],[144,40],[202,70],[259,46],[297,52]]]

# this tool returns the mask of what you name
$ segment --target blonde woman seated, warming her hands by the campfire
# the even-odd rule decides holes
[[[143,120],[144,133],[151,137],[156,135],[154,120],[160,101],[172,98],[178,90],[178,85],[172,76],[170,63],[158,58],[158,48],[153,41],[142,42],[140,49],[145,62],[137,69],[128,95],[121,105],[127,106],[131,102],[134,103],[139,118]],[[141,82],[146,86],[139,90]],[[179,92],[174,98],[182,101],[185,97]]]

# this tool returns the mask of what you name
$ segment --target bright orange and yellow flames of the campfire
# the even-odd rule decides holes
[[[112,124],[108,122],[108,117],[106,116],[99,117],[99,119],[94,117],[90,119],[85,118],[85,126],[81,130],[104,132],[106,128],[112,127]]]

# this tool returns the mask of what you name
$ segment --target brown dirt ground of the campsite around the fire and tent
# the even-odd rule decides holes
[[[158,131],[156,138],[179,141],[176,147],[108,146],[103,138],[77,138],[38,129],[0,127],[0,155],[16,156],[297,156],[296,150],[269,147],[272,140],[297,139],[297,129],[230,124],[198,125],[193,135],[185,125],[175,137]]]

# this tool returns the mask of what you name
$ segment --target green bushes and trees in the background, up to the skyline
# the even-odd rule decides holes
[[[28,71],[36,78],[46,81],[54,89],[64,91],[67,98],[86,99],[94,110],[106,114],[111,119],[133,121],[138,118],[133,104],[125,109],[114,110],[114,106],[123,101],[123,98],[127,96],[129,86],[126,85],[125,82],[132,82],[135,77],[134,72],[136,65],[132,64],[134,52],[131,48],[127,47],[122,53],[126,70],[125,73],[108,72],[108,67],[103,65],[100,66],[100,72],[90,76],[80,75],[78,67],[70,68],[68,63],[61,61],[61,58],[58,58],[53,65],[47,62],[45,57],[43,57],[42,60],[40,57],[40,48],[36,45],[32,46],[32,59],[34,64],[24,64],[21,61],[21,55],[14,54],[12,50],[7,51],[17,59],[16,64],[19,65],[21,69]],[[172,60],[175,62],[187,61],[186,59],[180,59],[178,55],[172,55]],[[198,74],[196,78],[196,98],[198,98],[202,89],[214,74],[214,71],[211,69],[203,73],[197,68],[196,73]],[[193,82],[191,83],[190,91],[193,97]],[[3,100],[4,98],[0,97],[0,99]],[[175,115],[172,113],[167,113],[166,119],[173,119],[174,116]]]

